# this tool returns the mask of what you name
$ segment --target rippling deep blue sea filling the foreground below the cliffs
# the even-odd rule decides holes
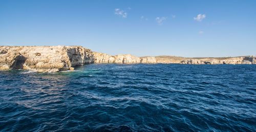
[[[256,131],[256,65],[0,71],[0,131]]]

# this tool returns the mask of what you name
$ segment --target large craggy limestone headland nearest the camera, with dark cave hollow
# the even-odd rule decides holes
[[[37,72],[73,70],[73,65],[94,61],[92,51],[82,47],[39,46],[0,47],[0,69],[25,69]]]

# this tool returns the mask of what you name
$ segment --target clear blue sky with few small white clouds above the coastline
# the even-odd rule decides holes
[[[256,55],[256,1],[3,0],[0,45],[79,45],[136,56]]]

